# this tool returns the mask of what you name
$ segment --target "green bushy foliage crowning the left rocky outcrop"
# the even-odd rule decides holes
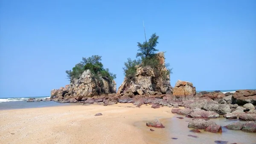
[[[93,74],[93,78],[99,80],[104,78],[109,82],[112,82],[116,78],[116,75],[111,73],[109,69],[104,69],[103,64],[100,62],[102,57],[99,55],[92,55],[89,58],[82,58],[80,63],[77,63],[72,70],[66,70],[67,78],[74,84],[75,79],[79,79],[81,74],[89,69]]]

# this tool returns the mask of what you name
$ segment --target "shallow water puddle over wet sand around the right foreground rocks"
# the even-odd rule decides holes
[[[177,117],[183,117],[179,119]],[[140,128],[148,143],[153,144],[256,144],[256,133],[244,132],[241,130],[228,130],[224,126],[239,120],[227,120],[226,118],[215,118],[214,121],[222,126],[222,133],[212,133],[200,130],[201,133],[189,132],[189,121],[192,118],[175,115],[173,118],[160,119],[165,128],[147,127],[147,121],[138,121],[134,126]],[[154,131],[150,131],[153,129]],[[189,135],[189,136],[188,136]],[[193,135],[193,136],[191,136]]]

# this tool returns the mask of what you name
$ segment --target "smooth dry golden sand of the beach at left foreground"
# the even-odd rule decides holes
[[[171,110],[133,104],[2,110],[0,144],[153,144],[157,139],[151,137],[157,138],[163,129],[147,127],[145,122],[171,118]],[[94,116],[98,112],[103,115]]]

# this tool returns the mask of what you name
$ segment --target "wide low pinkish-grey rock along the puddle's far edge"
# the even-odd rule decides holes
[[[219,114],[212,111],[205,111],[203,109],[190,112],[188,115],[190,118],[219,118]]]

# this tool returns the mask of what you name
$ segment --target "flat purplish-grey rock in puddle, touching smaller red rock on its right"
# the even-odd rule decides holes
[[[209,126],[215,126],[217,125],[213,121],[205,121],[203,119],[195,119],[191,122],[189,122],[188,127],[193,128],[193,129],[200,129],[200,130],[205,130]]]

